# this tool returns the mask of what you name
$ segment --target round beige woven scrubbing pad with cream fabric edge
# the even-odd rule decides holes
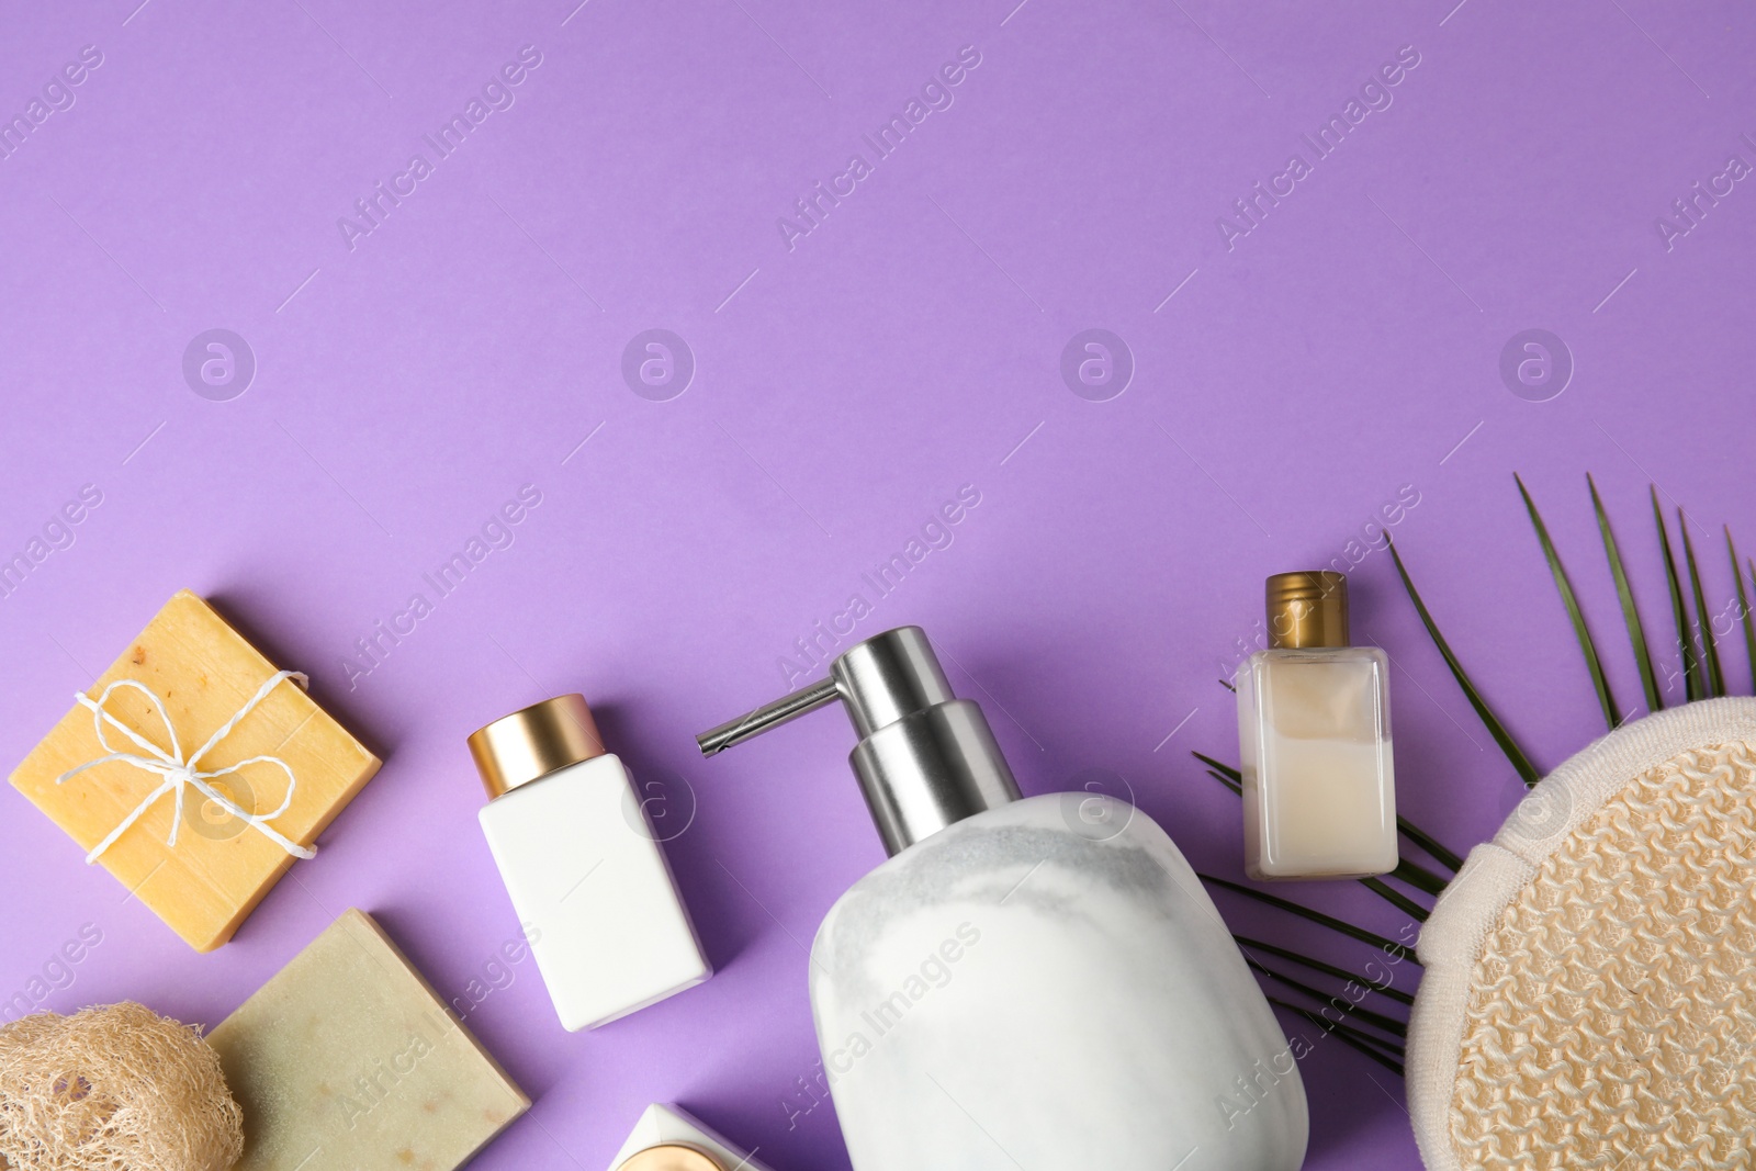
[[[1598,741],[1472,851],[1422,929],[1422,1159],[1751,1167],[1756,700]]]

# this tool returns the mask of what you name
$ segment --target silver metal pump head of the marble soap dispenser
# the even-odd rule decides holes
[[[711,757],[839,699],[859,732],[848,764],[889,853],[985,809],[1018,801],[1018,783],[982,708],[957,699],[920,627],[855,643],[829,678],[695,737]]]

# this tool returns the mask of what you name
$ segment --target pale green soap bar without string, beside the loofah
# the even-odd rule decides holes
[[[451,1171],[530,1110],[376,922],[348,911],[207,1034],[232,1171]]]

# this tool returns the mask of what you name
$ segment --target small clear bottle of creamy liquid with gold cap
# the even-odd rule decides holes
[[[1268,650],[1238,671],[1243,869],[1254,880],[1396,869],[1389,664],[1347,644],[1347,578],[1268,579]]]

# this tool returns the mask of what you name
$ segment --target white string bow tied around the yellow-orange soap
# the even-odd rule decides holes
[[[300,686],[309,686],[309,683],[311,683],[299,671],[277,671],[274,674],[274,678],[270,678],[267,683],[263,683],[256,690],[256,693],[251,695],[249,700],[242,708],[239,708],[232,715],[232,718],[227,720],[220,727],[218,732],[214,732],[212,736],[209,736],[207,743],[202,744],[200,748],[197,748],[195,753],[190,755],[188,758],[184,758],[183,748],[177,744],[177,729],[172,727],[170,715],[165,711],[163,700],[160,700],[158,695],[153,692],[153,688],[146,686],[144,683],[139,683],[135,679],[116,679],[114,683],[111,683],[109,686],[104,688],[104,693],[98,695],[97,700],[93,700],[91,697],[88,697],[84,692],[76,693],[74,700],[81,708],[88,708],[91,711],[91,727],[93,727],[93,730],[98,736],[98,744],[102,744],[104,750],[105,750],[105,753],[109,753],[109,755],[98,757],[97,760],[88,760],[83,765],[79,765],[77,769],[68,769],[61,776],[54,778],[56,785],[60,785],[61,781],[65,781],[65,779],[68,779],[72,776],[79,776],[86,769],[95,769],[100,764],[111,764],[112,760],[121,760],[121,762],[132,764],[137,769],[144,769],[148,772],[156,772],[158,776],[165,778],[163,785],[160,785],[151,794],[148,794],[146,801],[142,801],[140,804],[137,804],[133,808],[133,813],[130,813],[128,816],[125,816],[121,820],[121,825],[118,825],[116,829],[112,829],[109,832],[109,837],[105,837],[104,841],[100,841],[97,844],[97,848],[91,853],[86,855],[86,866],[91,866],[93,862],[97,862],[98,855],[102,855],[105,850],[109,850],[112,844],[116,844],[116,839],[121,837],[128,830],[130,825],[133,825],[137,820],[140,820],[140,815],[146,813],[148,809],[151,809],[153,802],[158,801],[160,797],[163,797],[165,794],[176,794],[177,808],[176,808],[176,813],[170,818],[170,837],[165,843],[167,846],[176,846],[177,844],[177,825],[183,822],[183,790],[188,785],[193,785],[195,790],[200,792],[209,801],[220,802],[232,816],[242,818],[246,825],[249,825],[251,829],[255,829],[260,834],[263,834],[265,837],[269,837],[281,850],[286,850],[286,853],[290,853],[290,855],[293,855],[297,858],[314,858],[318,855],[316,850],[306,850],[299,843],[291,841],[290,837],[283,836],[279,830],[276,830],[276,829],[272,829],[272,827],[267,825],[274,818],[277,818],[283,813],[286,813],[286,808],[290,804],[293,804],[293,788],[299,785],[299,778],[293,776],[291,765],[288,765],[279,757],[251,757],[249,760],[239,760],[237,764],[228,764],[227,767],[223,767],[223,769],[212,769],[211,772],[202,772],[200,769],[195,767],[195,765],[200,764],[202,757],[205,757],[207,751],[212,750],[214,744],[218,744],[227,736],[230,736],[232,729],[237,727],[239,720],[242,720],[251,711],[255,711],[256,704],[260,704],[263,699],[267,699],[269,692],[272,692],[276,686],[279,686],[279,683],[283,679],[295,679]],[[169,753],[165,750],[162,750],[158,744],[155,744],[155,743],[148,741],[146,737],[139,736],[133,729],[130,729],[126,723],[121,723],[119,720],[116,720],[116,716],[112,716],[109,711],[104,709],[104,704],[109,702],[111,692],[114,692],[118,686],[132,686],[137,692],[146,693],[146,697],[149,700],[153,700],[153,708],[158,709],[158,718],[163,720],[163,723],[165,723],[165,736],[170,737],[170,751]],[[104,739],[104,725],[105,723],[109,723],[118,732],[121,732],[123,736],[126,736],[128,739],[132,739],[135,744],[139,744],[149,755],[142,757],[140,753],[116,751],[111,746],[111,743],[107,739]],[[218,788],[214,788],[212,785],[207,783],[207,781],[211,781],[214,778],[227,776],[228,772],[237,772],[239,769],[242,769],[244,765],[249,765],[249,764],[276,764],[276,765],[281,767],[283,772],[286,772],[286,799],[281,801],[281,808],[276,809],[274,813],[263,813],[263,815],[246,813],[230,797],[227,797]]]

